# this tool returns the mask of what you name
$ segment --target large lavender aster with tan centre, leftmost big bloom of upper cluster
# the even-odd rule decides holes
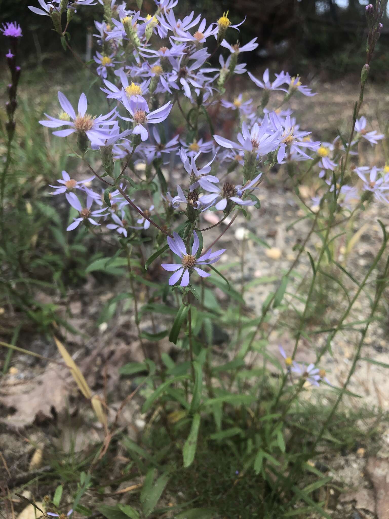
[[[117,125],[115,119],[109,119],[112,115],[116,116],[116,108],[110,111],[106,115],[100,115],[99,117],[92,117],[87,114],[88,101],[85,93],[80,95],[78,101],[78,113],[76,115],[73,106],[70,104],[68,99],[62,92],[58,92],[58,100],[62,107],[63,112],[60,117],[56,119],[50,115],[46,115],[49,120],[39,121],[39,123],[47,128],[59,128],[60,126],[70,126],[66,130],[53,131],[53,135],[58,137],[67,137],[71,133],[86,133],[88,139],[100,142],[103,145],[106,139],[109,139],[107,126]],[[70,120],[72,119],[72,120]]]

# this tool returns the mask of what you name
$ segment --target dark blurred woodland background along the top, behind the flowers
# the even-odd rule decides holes
[[[245,43],[257,36],[259,47],[251,53],[248,65],[275,70],[283,66],[292,74],[308,71],[322,80],[352,74],[364,63],[367,0],[241,0],[234,4],[230,0],[185,0],[180,2],[182,12],[191,9],[201,11],[210,22],[217,20],[229,9],[232,23],[240,22],[239,39]],[[36,16],[27,5],[37,5],[36,0],[3,0],[4,21],[18,20],[23,28],[22,49],[25,65],[64,65],[64,54],[54,31],[50,31],[47,17]],[[127,5],[135,0],[128,0]],[[232,5],[232,9],[231,9]],[[153,0],[144,0],[147,12],[155,11]],[[93,34],[93,18],[100,5],[79,9],[70,26],[72,45],[80,54],[88,52],[86,34]],[[377,59],[373,64],[370,79],[384,81],[389,71],[389,56],[384,51],[389,43],[388,13],[384,18],[377,48]],[[234,33],[231,31],[233,36]]]

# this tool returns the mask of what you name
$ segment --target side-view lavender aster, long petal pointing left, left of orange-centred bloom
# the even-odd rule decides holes
[[[257,154],[257,158],[273,152],[280,144],[281,128],[277,131],[269,125],[269,118],[266,114],[261,126],[254,124],[251,132],[248,131],[246,122],[242,124],[242,133],[238,134],[239,144],[225,139],[221,135],[214,135],[215,141],[224,148],[241,149],[246,152]]]

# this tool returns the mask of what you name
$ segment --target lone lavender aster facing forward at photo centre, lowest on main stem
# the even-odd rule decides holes
[[[188,286],[189,284],[189,276],[192,270],[196,270],[199,276],[202,278],[206,278],[210,276],[207,272],[204,272],[201,268],[198,268],[197,265],[210,265],[212,263],[216,263],[221,254],[223,254],[226,249],[220,249],[216,252],[212,252],[210,249],[208,252],[203,254],[200,257],[196,257],[196,253],[199,250],[199,238],[196,234],[196,231],[193,231],[193,245],[192,245],[192,253],[187,254],[185,243],[183,239],[177,234],[173,233],[173,238],[168,236],[168,244],[169,248],[174,254],[177,254],[181,258],[181,264],[176,263],[162,263],[161,267],[170,272],[174,271],[174,274],[169,279],[169,284],[174,285],[181,279],[179,283],[181,286]]]

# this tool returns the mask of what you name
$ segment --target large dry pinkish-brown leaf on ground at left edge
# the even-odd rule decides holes
[[[16,409],[2,420],[18,428],[31,425],[37,415],[52,417],[52,408],[57,413],[65,408],[69,390],[70,384],[58,368],[49,368],[31,382],[14,386],[10,389],[12,392],[0,397],[0,404]]]

